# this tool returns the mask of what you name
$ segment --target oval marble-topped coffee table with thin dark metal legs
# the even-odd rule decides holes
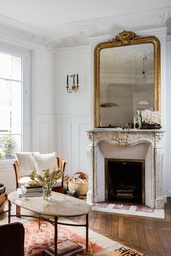
[[[70,197],[65,194],[57,192],[51,193],[51,201],[46,201],[43,197],[26,197],[19,198],[17,191],[8,195],[9,200],[9,216],[10,223],[13,216],[25,216],[33,218],[41,218],[54,225],[54,256],[57,256],[57,225],[66,226],[85,226],[86,227],[86,250],[88,251],[88,213],[91,212],[91,206],[86,202]],[[35,212],[37,216],[33,215],[11,215],[11,203],[18,205],[26,210]],[[59,217],[77,217],[86,215],[86,224],[70,224],[61,223],[58,221]],[[50,220],[49,218],[53,218]]]

